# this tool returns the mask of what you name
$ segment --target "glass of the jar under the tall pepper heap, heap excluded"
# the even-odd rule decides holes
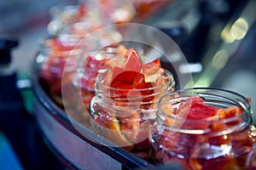
[[[108,70],[100,71],[96,96],[90,102],[93,130],[113,142],[113,146],[133,152],[148,150],[148,132],[156,117],[157,101],[175,86],[171,72],[165,71],[161,77],[165,82],[157,86],[127,90],[105,85]]]

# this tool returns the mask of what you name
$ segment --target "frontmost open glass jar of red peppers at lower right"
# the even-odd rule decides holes
[[[248,100],[216,88],[164,96],[150,135],[155,162],[176,161],[185,169],[246,169],[254,141]]]

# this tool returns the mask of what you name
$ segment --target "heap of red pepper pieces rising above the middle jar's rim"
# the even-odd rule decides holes
[[[122,63],[125,64],[122,65]],[[148,90],[141,91],[142,96],[154,93],[152,88],[155,85],[155,81],[146,82],[144,73],[149,74],[149,76],[155,74],[160,76],[160,74],[158,74],[160,73],[160,59],[155,59],[150,63],[142,65],[142,59],[140,58],[140,55],[134,48],[130,48],[126,51],[125,55],[110,59],[107,66],[108,68],[112,69],[112,80],[110,82],[110,87],[127,90],[126,92],[125,90],[118,90],[115,91],[114,94],[119,93],[123,96],[127,94],[131,88],[149,88]],[[152,97],[150,97],[150,99],[152,99]]]

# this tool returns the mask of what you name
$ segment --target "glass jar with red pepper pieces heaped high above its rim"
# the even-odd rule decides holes
[[[92,128],[115,146],[147,150],[157,101],[174,85],[160,59],[143,64],[137,51],[128,49],[110,59],[96,77],[96,96],[90,102]]]

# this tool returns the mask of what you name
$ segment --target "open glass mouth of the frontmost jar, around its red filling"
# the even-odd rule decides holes
[[[220,108],[227,108],[230,106],[241,107],[242,114],[219,120],[192,120],[187,119],[186,116],[172,116],[164,111],[165,109],[163,108],[163,104],[165,102],[166,104],[171,104],[172,107],[178,107],[183,100],[194,96],[201,97],[204,100],[204,103],[207,105],[214,105]],[[162,123],[163,126],[170,127],[172,130],[176,129],[178,132],[183,133],[209,133],[211,131],[209,128],[201,128],[200,125],[212,126],[212,124],[228,124],[236,122],[237,120],[242,120],[242,122],[238,123],[236,126],[232,126],[229,129],[224,129],[224,131],[227,133],[238,129],[239,127],[243,127],[252,121],[252,110],[248,99],[241,94],[237,94],[236,92],[220,88],[185,88],[178,90],[163,96],[158,102],[158,108],[159,111],[157,121]],[[166,119],[171,119],[172,122],[176,122],[176,125],[172,126],[167,124],[165,122]],[[198,128],[195,129],[183,128],[183,123],[199,126],[196,126]]]

